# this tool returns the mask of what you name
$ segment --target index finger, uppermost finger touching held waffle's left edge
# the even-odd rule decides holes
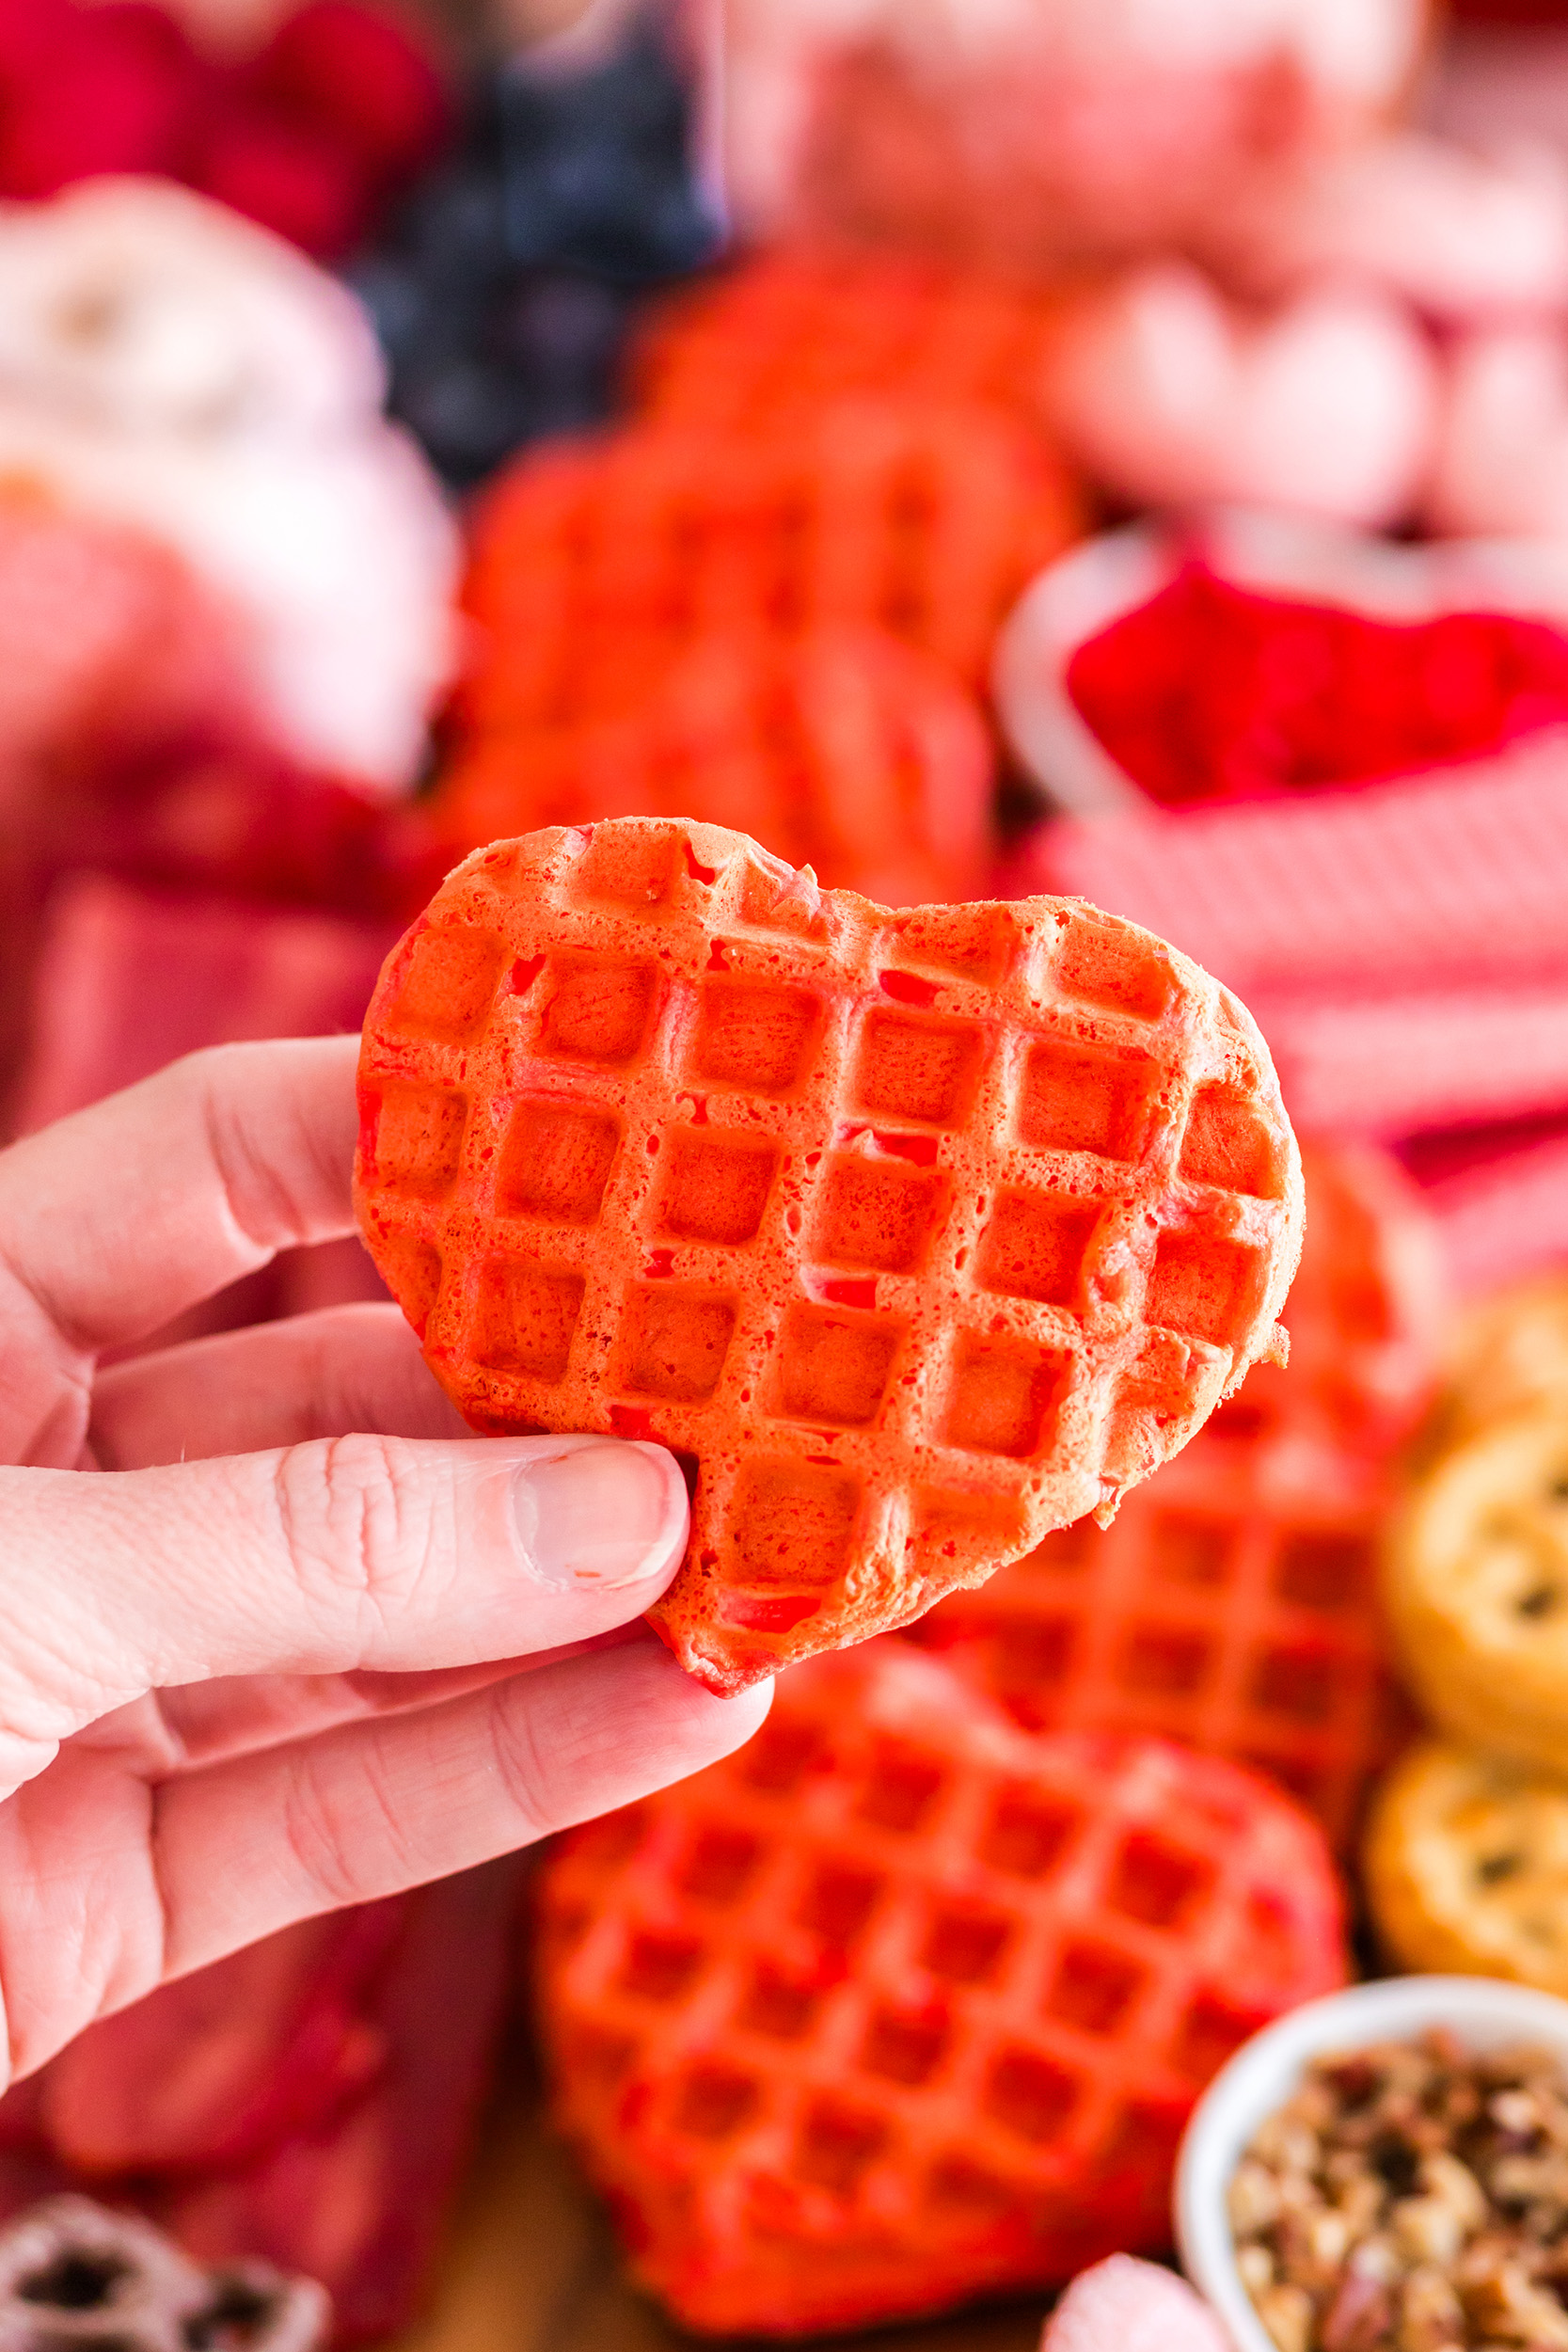
[[[0,1152],[0,1329],[146,1338],[353,1230],[357,1037],[221,1044]],[[42,1369],[42,1367],[40,1367]]]

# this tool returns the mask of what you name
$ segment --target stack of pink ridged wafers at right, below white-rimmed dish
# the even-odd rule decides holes
[[[1039,826],[1004,889],[1147,924],[1258,1014],[1305,1131],[1453,1136],[1453,1284],[1568,1261],[1568,734],[1312,800]],[[1465,1129],[1535,1134],[1465,1143]]]

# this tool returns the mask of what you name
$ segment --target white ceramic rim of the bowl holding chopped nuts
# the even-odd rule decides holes
[[[1324,2051],[1406,2042],[1448,2025],[1472,2049],[1537,2042],[1568,2065],[1568,2002],[1493,1976],[1392,1976],[1307,2002],[1237,2051],[1192,2112],[1175,2166],[1175,2244],[1187,2277],[1208,2296],[1237,2352],[1274,2352],[1237,2277],[1225,2211],[1229,2176],[1265,2117],[1291,2098]]]

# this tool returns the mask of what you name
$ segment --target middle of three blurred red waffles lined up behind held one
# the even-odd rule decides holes
[[[1004,612],[1079,529],[1048,449],[983,405],[839,400],[762,433],[635,423],[510,466],[475,517],[468,722],[548,717],[559,644],[755,623],[889,628],[980,682]],[[581,696],[578,708],[581,708]]]

